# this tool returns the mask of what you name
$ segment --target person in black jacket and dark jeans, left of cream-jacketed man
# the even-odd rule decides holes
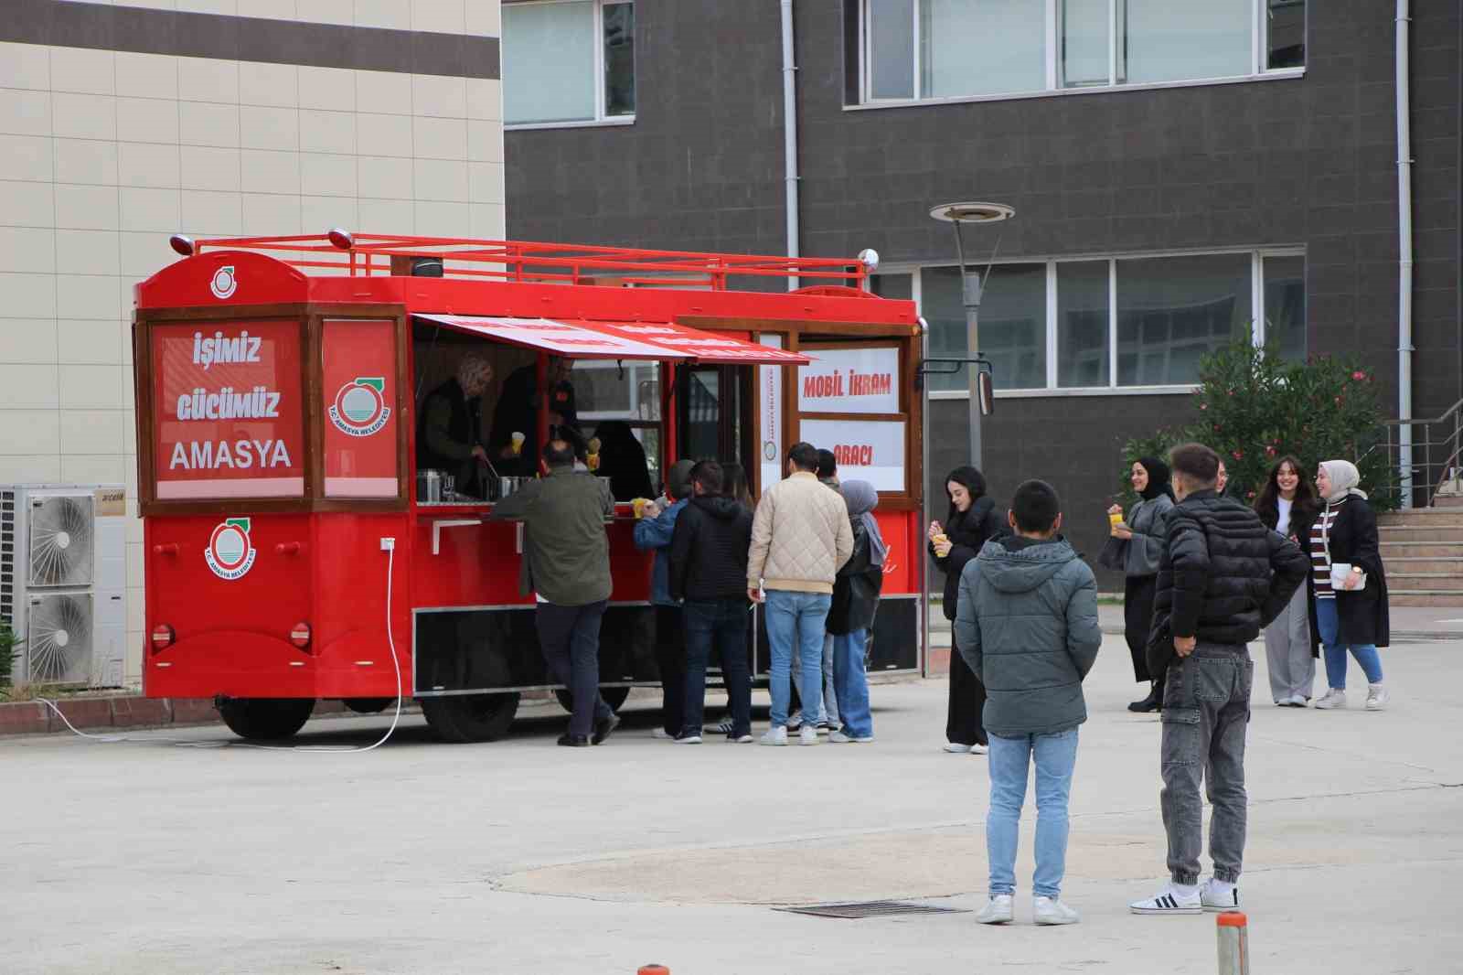
[[[732,706],[730,741],[752,741],[752,673],[746,659],[746,559],[752,512],[721,493],[721,464],[691,468],[691,504],[670,539],[670,594],[685,600],[686,707],[677,744],[701,744],[707,659],[715,643]]]

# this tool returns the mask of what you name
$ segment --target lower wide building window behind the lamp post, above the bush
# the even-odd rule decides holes
[[[985,280],[980,351],[1002,391],[1189,386],[1207,353],[1241,337],[1285,359],[1306,354],[1302,253],[1011,262]],[[869,290],[919,305],[930,357],[966,357],[958,268],[890,268]],[[967,389],[964,372],[928,382],[936,394]]]

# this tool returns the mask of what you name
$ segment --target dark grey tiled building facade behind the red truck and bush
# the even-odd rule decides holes
[[[1393,3],[794,0],[796,174],[771,0],[505,3],[505,60],[552,48],[623,75],[607,31],[576,28],[573,51],[547,38],[554,18],[623,23],[613,9],[631,6],[633,76],[614,85],[632,86],[629,111],[601,83],[556,116],[506,72],[509,234],[784,253],[796,176],[800,252],[876,249],[875,288],[919,300],[932,354],[951,356],[966,348],[960,278],[930,206],[1009,203],[1015,220],[966,234],[970,262],[993,256],[983,467],[998,499],[1050,480],[1088,555],[1124,442],[1185,419],[1200,356],[1235,335],[1356,353],[1397,406]],[[1426,417],[1463,397],[1463,26],[1456,0],[1412,7],[1412,394]],[[967,457],[963,385],[930,382],[932,511]]]

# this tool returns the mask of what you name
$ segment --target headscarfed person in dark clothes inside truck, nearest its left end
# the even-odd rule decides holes
[[[417,430],[417,468],[456,477],[456,492],[484,496],[487,451],[483,448],[483,392],[493,366],[477,353],[458,362],[456,373],[427,394]]]

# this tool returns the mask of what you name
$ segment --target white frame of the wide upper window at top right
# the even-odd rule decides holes
[[[549,0],[553,1],[553,0]],[[1118,32],[1118,13],[1124,0],[1107,0],[1107,83],[1106,85],[1086,85],[1078,88],[1064,88],[1061,78],[1061,13],[1065,0],[1042,0],[1046,16],[1046,50],[1045,50],[1045,69],[1046,69],[1046,85],[1045,88],[1024,92],[1008,92],[999,95],[945,95],[945,97],[928,97],[920,94],[920,0],[911,0],[911,15],[914,18],[914,34],[913,34],[913,51],[910,59],[910,70],[913,72],[913,98],[875,98],[873,97],[873,79],[870,70],[870,45],[873,42],[869,37],[869,3],[870,0],[856,0],[856,6],[850,7],[856,10],[857,15],[857,95],[859,101],[856,104],[846,104],[844,111],[866,111],[876,108],[900,108],[907,105],[944,105],[944,104],[964,104],[976,101],[1011,101],[1021,98],[1053,98],[1067,95],[1090,95],[1090,94],[1106,94],[1115,91],[1151,91],[1156,88],[1195,88],[1203,85],[1236,85],[1254,81],[1280,81],[1290,78],[1304,78],[1305,66],[1301,67],[1268,67],[1268,51],[1270,51],[1270,25],[1268,25],[1268,0],[1249,0],[1249,70],[1244,75],[1223,75],[1217,78],[1194,78],[1181,81],[1163,81],[1163,82],[1143,82],[1143,83],[1121,83],[1118,78],[1118,50],[1121,45],[1121,38]],[[1309,3],[1305,10],[1305,22],[1309,25],[1311,9]],[[847,29],[847,28],[846,28]],[[851,75],[851,72],[850,72]]]

